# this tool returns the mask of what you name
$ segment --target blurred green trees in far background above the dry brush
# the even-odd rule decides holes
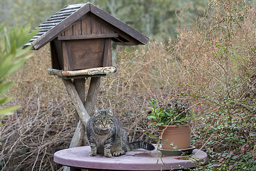
[[[86,3],[84,0],[1,0],[0,21],[10,26],[30,24],[33,28],[67,4]],[[195,22],[200,12],[208,6],[208,0],[91,0],[101,9],[117,17],[119,20],[152,36],[176,37],[176,14],[180,9],[188,8],[186,20],[188,24]]]

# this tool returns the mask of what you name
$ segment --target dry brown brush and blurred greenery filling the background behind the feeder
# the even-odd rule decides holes
[[[255,1],[91,2],[151,37],[146,46],[116,47],[118,71],[102,78],[96,104],[113,106],[128,140],[154,142],[135,130],[147,128],[152,98],[159,104],[189,101],[198,116],[191,125],[192,145],[209,160],[194,170],[256,170]],[[66,3],[84,2],[0,3],[2,22],[37,26]],[[2,170],[61,170],[52,158],[71,141],[75,109],[61,80],[47,75],[49,55],[49,46],[36,51],[9,78],[15,80],[11,103],[22,107],[2,121]]]

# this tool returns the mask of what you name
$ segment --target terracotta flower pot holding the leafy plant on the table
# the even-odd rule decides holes
[[[158,126],[159,131],[166,128],[167,125]],[[168,125],[162,136],[162,149],[172,150],[173,147],[169,144],[173,144],[178,149],[190,148],[190,127],[189,124],[184,125]],[[165,141],[168,143],[166,143]]]

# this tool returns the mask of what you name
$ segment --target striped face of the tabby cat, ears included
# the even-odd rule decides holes
[[[96,131],[99,130],[112,130],[113,128],[113,108],[109,107],[108,110],[99,110],[94,108],[94,123]]]

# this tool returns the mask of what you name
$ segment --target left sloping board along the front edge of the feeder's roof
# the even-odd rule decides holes
[[[68,16],[61,23],[59,23],[57,26],[53,27],[51,29],[51,32],[45,33],[40,38],[38,38],[36,41],[32,42],[34,48],[40,49],[46,43],[48,43],[49,41],[52,41],[54,38],[57,37],[57,35],[62,30],[66,29],[70,25],[70,23],[75,22],[76,20],[78,20],[80,17],[82,17],[84,14],[86,14],[89,11],[90,11],[90,3],[86,3],[80,9],[78,9],[76,12],[74,12],[73,14]],[[56,20],[56,18],[54,20]]]

